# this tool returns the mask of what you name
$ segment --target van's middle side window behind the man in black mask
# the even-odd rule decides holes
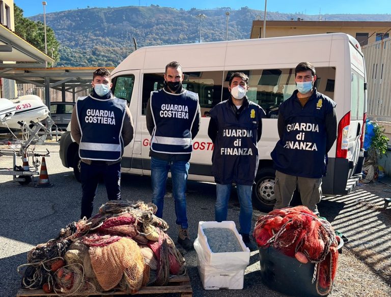
[[[197,93],[200,99],[201,115],[209,117],[209,110],[221,101],[222,71],[185,72],[183,87]],[[146,73],[143,79],[142,114],[146,114],[147,103],[152,91],[164,87],[163,73]]]

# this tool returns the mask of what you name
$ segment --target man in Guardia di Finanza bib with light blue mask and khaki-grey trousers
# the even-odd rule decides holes
[[[271,152],[276,169],[274,209],[289,206],[297,186],[302,204],[319,215],[327,153],[337,138],[336,103],[314,87],[311,63],[296,66],[295,81],[297,90],[278,110],[280,141]]]

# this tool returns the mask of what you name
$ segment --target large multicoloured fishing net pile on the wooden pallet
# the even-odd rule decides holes
[[[166,285],[170,275],[185,274],[185,260],[155,213],[152,203],[107,202],[27,253],[18,267],[22,288],[87,295]]]

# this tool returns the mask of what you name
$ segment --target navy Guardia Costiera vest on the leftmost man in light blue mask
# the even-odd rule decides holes
[[[90,96],[76,102],[81,131],[79,157],[87,160],[117,161],[124,150],[122,125],[126,101]]]

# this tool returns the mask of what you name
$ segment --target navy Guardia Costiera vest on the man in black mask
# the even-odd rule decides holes
[[[151,111],[155,129],[151,150],[165,154],[188,154],[192,151],[191,127],[198,107],[198,94],[184,91],[151,92]]]

